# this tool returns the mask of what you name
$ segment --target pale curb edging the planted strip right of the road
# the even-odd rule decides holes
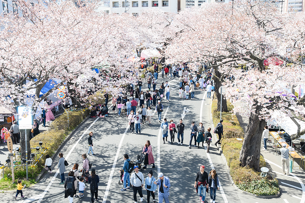
[[[213,100],[214,100],[214,97],[213,97]],[[212,106],[211,106],[211,107],[212,107]],[[212,127],[214,128],[212,111],[211,111],[211,125],[212,125]],[[255,194],[252,194],[252,193],[249,193],[249,192],[246,192],[246,191],[243,191],[243,190],[239,189],[239,188],[235,185],[235,183],[234,183],[234,181],[233,181],[233,178],[232,178],[232,176],[231,176],[231,174],[230,174],[230,168],[229,168],[229,166],[228,166],[227,159],[226,159],[226,157],[224,156],[224,154],[222,153],[221,147],[217,147],[217,149],[218,149],[218,151],[221,153],[221,158],[222,158],[222,160],[223,160],[223,162],[224,162],[224,165],[225,165],[226,168],[227,168],[227,173],[228,173],[229,180],[231,181],[231,184],[233,185],[233,187],[234,187],[239,193],[247,194],[247,195],[249,195],[249,196],[256,197],[256,198],[262,198],[262,199],[277,198],[277,197],[279,197],[279,196],[281,195],[281,192],[278,192],[278,194],[276,194],[276,195],[270,195],[270,196],[255,195]]]

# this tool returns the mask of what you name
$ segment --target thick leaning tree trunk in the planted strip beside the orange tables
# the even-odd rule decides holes
[[[259,111],[260,109],[256,112]],[[241,166],[249,166],[256,171],[260,171],[260,144],[266,124],[265,120],[259,119],[259,113],[250,114],[242,149],[239,154]]]

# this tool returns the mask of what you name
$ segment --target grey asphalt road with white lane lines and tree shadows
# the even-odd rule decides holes
[[[159,79],[158,82],[160,83],[160,81],[163,81],[163,79]],[[165,117],[167,118],[167,121],[172,119],[174,120],[174,123],[177,124],[181,118],[184,108],[186,107],[189,110],[183,119],[183,123],[185,124],[183,145],[178,145],[177,138],[175,138],[173,145],[171,145],[170,142],[163,144],[157,114],[154,114],[152,117],[152,126],[148,126],[147,124],[145,126],[141,125],[140,135],[136,135],[135,133],[131,134],[129,129],[127,130],[128,119],[125,116],[119,117],[111,113],[107,118],[89,118],[62,149],[64,157],[66,157],[67,161],[70,163],[70,165],[66,167],[66,172],[72,168],[74,163],[78,163],[81,167],[81,154],[87,153],[88,151],[87,138],[89,132],[92,131],[94,133],[94,153],[97,156],[89,156],[88,159],[92,163],[92,168],[95,168],[96,173],[100,178],[99,202],[134,202],[132,190],[123,192],[120,191],[121,185],[118,184],[120,177],[119,170],[123,166],[123,154],[127,153],[132,160],[136,159],[137,155],[142,152],[146,140],[150,140],[151,142],[152,153],[157,167],[152,169],[151,166],[149,166],[147,169],[143,170],[142,173],[146,178],[147,173],[150,169],[152,169],[153,175],[157,177],[159,170],[165,176],[169,177],[171,184],[170,202],[200,202],[199,197],[196,194],[196,190],[193,187],[196,173],[199,171],[200,165],[204,165],[206,167],[206,172],[210,172],[212,167],[214,167],[217,171],[222,188],[220,191],[217,191],[216,202],[304,202],[304,200],[300,200],[304,196],[302,196],[302,190],[293,187],[286,187],[287,185],[283,187],[281,186],[283,190],[282,195],[279,198],[274,199],[259,199],[249,195],[240,194],[231,185],[224,162],[215,145],[211,144],[211,153],[208,155],[201,145],[199,149],[194,148],[193,146],[192,149],[189,149],[189,128],[191,126],[191,121],[195,121],[195,124],[198,126],[199,122],[202,120],[205,129],[212,127],[210,112],[212,99],[206,98],[205,91],[196,90],[195,100],[180,100],[178,98],[179,88],[177,85],[177,79],[170,82],[170,87],[175,89],[173,89],[170,94],[170,102],[163,102],[164,111],[162,113],[162,117],[164,117],[164,114],[166,114]],[[144,87],[145,86],[143,86],[143,88]],[[168,140],[170,140],[170,137],[168,138]],[[213,137],[213,142],[215,142],[215,136]],[[192,144],[194,145],[194,141]],[[158,153],[158,146],[160,147],[160,153]],[[158,161],[158,155],[160,157],[160,161]],[[280,160],[279,156],[277,156],[276,159]],[[274,159],[271,160],[274,161]],[[23,192],[26,195],[26,199],[21,199],[19,196],[17,198],[17,202],[69,202],[68,199],[64,198],[63,185],[59,185],[60,175],[55,174],[57,163],[58,158],[52,165],[52,175],[45,173],[38,184],[36,184],[34,187],[24,189]],[[277,164],[279,164],[278,161]],[[280,172],[281,170],[279,169],[278,171]],[[302,172],[296,175],[302,180],[304,179]],[[65,176],[67,176],[67,173]],[[294,180],[295,178],[288,177],[287,179]],[[302,187],[297,181],[291,181],[289,183],[291,185],[295,185],[295,187]],[[291,196],[292,193],[297,198],[293,198]],[[12,202],[14,194],[15,193],[3,194],[3,202]],[[84,194],[85,196],[81,199],[74,198],[74,203],[90,202],[90,191],[88,184],[86,184],[86,191]],[[143,194],[143,202],[147,202],[146,191],[143,190]],[[287,202],[283,199],[285,199]],[[206,195],[205,202],[210,202],[209,193]]]

